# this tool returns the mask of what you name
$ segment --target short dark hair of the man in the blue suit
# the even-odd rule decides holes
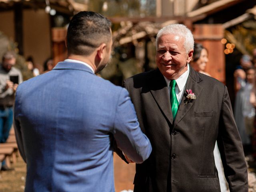
[[[88,56],[111,39],[111,22],[99,13],[82,11],[74,15],[68,26],[68,54]]]

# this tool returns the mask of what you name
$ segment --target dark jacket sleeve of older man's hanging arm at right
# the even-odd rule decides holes
[[[218,147],[230,192],[248,192],[248,173],[242,142],[225,86],[219,121]]]

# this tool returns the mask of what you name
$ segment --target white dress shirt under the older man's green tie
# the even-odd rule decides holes
[[[177,100],[179,101],[179,104],[182,100],[182,96],[184,93],[184,88],[186,86],[186,82],[188,80],[188,75],[189,75],[189,65],[188,65],[188,70],[186,70],[178,79],[176,79],[176,86],[175,86],[175,93]],[[167,87],[168,87],[168,94],[170,96],[170,81],[164,76],[164,79],[166,81]]]

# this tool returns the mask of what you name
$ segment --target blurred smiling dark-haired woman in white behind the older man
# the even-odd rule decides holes
[[[202,74],[210,76],[210,74],[208,74],[207,72],[204,71],[208,61],[209,61],[208,60],[208,51],[206,50],[206,48],[200,43],[195,43],[193,57],[190,61],[192,68],[194,68],[194,70],[196,70]],[[213,153],[214,153],[215,165],[218,170],[218,177],[220,180],[220,189],[221,189],[221,192],[226,192],[228,183],[226,182],[226,178],[224,175],[224,169],[222,166],[222,160],[220,157],[220,151],[218,149],[217,142],[215,143]]]

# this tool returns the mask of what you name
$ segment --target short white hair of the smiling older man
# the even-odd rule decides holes
[[[156,44],[158,43],[158,38],[162,35],[174,34],[184,38],[184,48],[186,53],[188,53],[191,49],[194,48],[194,38],[193,34],[189,28],[187,28],[183,24],[170,24],[168,26],[163,27],[159,30],[156,36]]]

